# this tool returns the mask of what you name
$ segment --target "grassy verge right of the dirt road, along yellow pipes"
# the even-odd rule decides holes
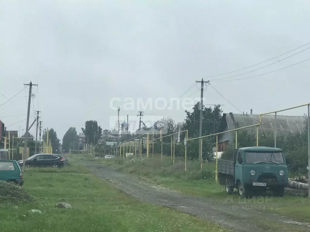
[[[170,157],[161,158],[127,158],[96,159],[127,174],[135,174],[149,182],[179,190],[188,195],[212,197],[223,204],[233,202],[241,206],[252,207],[262,212],[277,213],[300,221],[310,222],[310,201],[307,198],[270,195],[254,199],[241,199],[237,193],[228,196],[224,186],[215,183],[215,165],[204,163],[203,169],[197,161],[188,162],[188,170],[184,170],[184,162],[175,160],[173,165]]]

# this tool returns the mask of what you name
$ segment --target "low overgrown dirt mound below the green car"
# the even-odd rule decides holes
[[[17,184],[0,181],[0,203],[19,203],[33,200],[33,197]]]

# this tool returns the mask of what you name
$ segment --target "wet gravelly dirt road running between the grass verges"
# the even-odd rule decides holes
[[[93,174],[108,180],[118,189],[140,201],[179,209],[232,231],[310,231],[308,223],[261,213],[253,205],[232,203],[229,198],[225,201],[216,201],[210,198],[188,196],[160,186],[152,186],[135,176],[122,174],[109,166],[99,165],[95,161],[80,161],[80,163]],[[256,207],[266,205],[260,204]],[[272,229],[269,230],[268,225],[272,225]]]

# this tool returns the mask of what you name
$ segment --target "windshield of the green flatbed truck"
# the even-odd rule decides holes
[[[281,152],[246,152],[246,162],[253,163],[279,163],[283,164],[283,155]]]

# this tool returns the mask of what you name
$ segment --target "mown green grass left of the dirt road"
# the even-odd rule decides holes
[[[1,204],[1,232],[227,231],[170,208],[139,203],[78,165],[29,169],[24,180],[35,201]],[[58,202],[72,209],[58,209]],[[31,209],[42,214],[28,213]]]

